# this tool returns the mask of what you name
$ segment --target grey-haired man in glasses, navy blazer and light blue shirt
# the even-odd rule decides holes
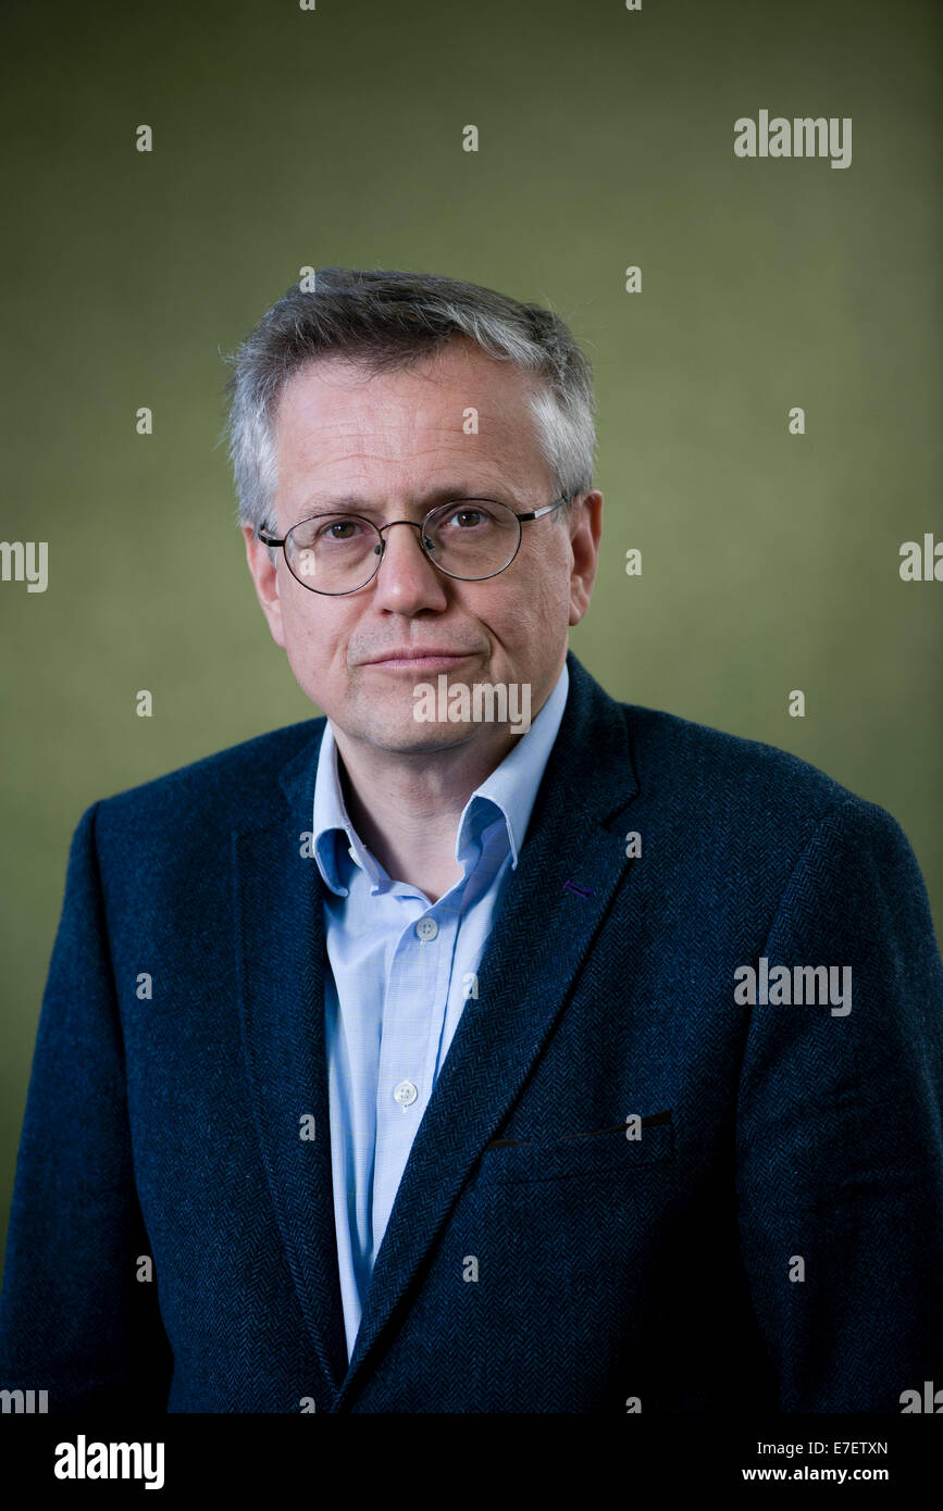
[[[0,1384],[730,1413],[943,1383],[917,864],[568,651],[601,496],[565,326],[325,269],[231,393],[255,591],[326,718],[82,817]]]

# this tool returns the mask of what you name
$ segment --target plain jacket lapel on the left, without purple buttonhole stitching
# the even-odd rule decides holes
[[[334,1230],[323,1027],[323,882],[301,857],[323,721],[286,768],[287,808],[233,837],[242,1043],[281,1239],[325,1380],[348,1367]],[[314,1138],[301,1120],[314,1118]]]

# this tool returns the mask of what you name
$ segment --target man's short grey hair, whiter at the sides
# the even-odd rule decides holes
[[[527,393],[543,458],[573,500],[592,488],[592,367],[550,310],[437,273],[322,267],[314,289],[292,284],[237,351],[227,382],[224,437],[239,523],[274,529],[275,416],[289,379],[320,357],[348,357],[372,373],[408,367],[465,335],[497,361],[541,379]],[[567,518],[573,503],[556,518]]]

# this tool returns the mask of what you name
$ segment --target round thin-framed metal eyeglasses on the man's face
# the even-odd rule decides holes
[[[255,533],[266,545],[281,545],[289,571],[311,592],[340,595],[366,588],[379,571],[387,548],[384,530],[391,530],[394,524],[411,524],[419,530],[425,556],[446,577],[484,582],[485,577],[497,577],[517,556],[521,524],[541,520],[564,503],[568,497],[530,514],[517,514],[496,499],[452,499],[429,509],[422,524],[390,520],[376,526],[360,514],[332,511],[299,520],[281,539],[263,529]],[[313,577],[317,583],[311,582]]]

